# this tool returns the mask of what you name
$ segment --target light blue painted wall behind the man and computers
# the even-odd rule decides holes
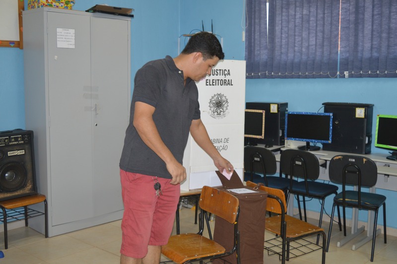
[[[97,3],[77,0],[73,9],[86,10]],[[103,0],[100,3],[135,9],[131,24],[132,82],[135,71],[147,61],[177,56],[178,38],[201,30],[201,21],[204,30],[211,31],[211,19],[213,33],[223,41],[225,59],[244,60],[244,0]],[[181,49],[186,41],[187,38],[180,38]],[[291,111],[317,112],[324,102],[354,102],[374,104],[374,116],[397,115],[396,98],[396,78],[246,81],[247,102],[288,102]],[[0,131],[15,128],[25,129],[23,50],[0,48]],[[372,152],[387,153],[374,146]],[[397,205],[391,202],[397,199],[397,192],[379,189],[377,192],[386,195],[389,201],[388,226],[397,228],[397,222],[392,220],[397,217]],[[320,205],[313,200],[308,208],[318,211]],[[326,208],[331,211],[331,198],[327,199]],[[360,219],[365,221],[366,214],[361,213]],[[379,220],[382,223],[381,215]]]

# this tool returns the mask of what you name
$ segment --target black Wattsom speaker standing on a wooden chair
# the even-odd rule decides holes
[[[0,132],[0,200],[35,194],[33,131]]]

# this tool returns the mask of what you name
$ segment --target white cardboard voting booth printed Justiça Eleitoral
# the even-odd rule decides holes
[[[244,163],[245,61],[223,60],[197,83],[201,121],[212,143],[238,175]],[[220,186],[212,159],[189,137],[183,165],[187,179],[181,190]]]

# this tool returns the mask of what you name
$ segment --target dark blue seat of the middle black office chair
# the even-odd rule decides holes
[[[315,181],[308,181],[309,196],[326,197],[331,194],[336,194],[338,187],[336,185],[320,183]],[[298,195],[306,195],[305,181],[300,181],[292,185],[291,193]]]

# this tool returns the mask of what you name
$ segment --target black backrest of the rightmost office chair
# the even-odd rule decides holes
[[[330,161],[330,180],[336,184],[373,187],[378,180],[378,169],[373,160],[356,155],[337,155]]]

